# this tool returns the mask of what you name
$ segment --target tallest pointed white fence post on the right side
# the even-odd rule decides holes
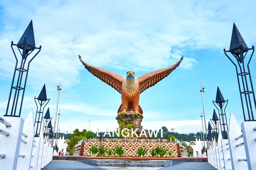
[[[243,138],[240,137],[241,135],[242,133],[239,124],[231,112],[228,131],[228,144],[230,149],[232,170],[248,170],[245,150],[243,146],[244,141]]]

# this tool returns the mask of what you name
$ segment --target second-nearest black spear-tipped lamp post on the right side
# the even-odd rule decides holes
[[[226,108],[227,108],[228,100],[224,99],[219,88],[217,88],[216,99],[215,99],[215,101],[212,100],[212,102],[214,105],[215,105],[215,103],[218,105],[218,107],[217,107],[217,105],[215,105],[215,107],[218,109],[218,113],[220,116],[221,134],[222,134],[222,132],[224,133],[224,136],[222,136],[222,139],[227,139],[228,128],[227,128]],[[226,103],[226,105],[225,105],[225,103]]]

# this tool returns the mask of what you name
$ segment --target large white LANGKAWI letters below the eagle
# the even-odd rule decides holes
[[[138,130],[139,128],[136,128],[135,130],[132,128],[131,129],[131,132],[130,132],[130,130],[128,129],[128,128],[123,128],[122,129],[122,131],[121,131],[121,136],[122,137],[129,137],[130,136],[130,133],[131,133],[131,136],[136,136],[136,137],[141,137],[141,136],[143,136],[143,135],[145,135],[145,137],[150,137],[150,138],[152,138],[152,136],[153,136],[153,134],[154,134],[154,137],[155,138],[157,138],[157,133],[158,133],[158,131],[157,130],[148,130],[148,135],[149,136],[147,136],[147,134],[146,134],[146,132],[145,132],[145,129],[142,129],[141,130],[141,132],[140,132],[140,136],[138,136],[137,135],[137,130]],[[104,135],[103,135],[103,137],[105,137],[106,135],[109,135],[109,137],[113,137],[114,135],[115,135],[115,133],[116,133],[116,136],[117,137],[120,137],[120,129],[119,128],[117,128],[117,130],[115,130],[114,128],[113,128],[113,130],[112,130],[112,136],[111,136],[111,131],[109,130],[109,128],[106,128],[106,130],[105,130],[105,133],[104,133]],[[160,129],[160,133],[161,133],[161,138],[163,138],[163,129]],[[99,128],[97,128],[97,137],[99,137]]]

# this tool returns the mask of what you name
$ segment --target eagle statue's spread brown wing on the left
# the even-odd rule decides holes
[[[84,67],[91,74],[98,77],[103,82],[107,83],[112,88],[116,89],[116,91],[121,93],[122,83],[125,81],[125,79],[122,76],[119,76],[118,74],[112,73],[111,71],[106,71],[104,69],[97,68],[97,67],[94,67],[92,65],[89,65],[81,59],[80,55],[79,55],[79,59],[83,63]]]

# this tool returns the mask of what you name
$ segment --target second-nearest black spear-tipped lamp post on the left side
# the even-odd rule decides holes
[[[35,124],[34,124],[34,127],[36,127],[35,137],[39,137],[39,135],[40,135],[41,123],[42,123],[43,113],[44,113],[44,107],[48,104],[49,101],[50,101],[50,99],[47,99],[46,89],[45,89],[45,84],[44,84],[38,98],[35,98],[35,104],[36,104],[36,107],[37,107],[36,114],[35,114]],[[37,104],[37,102],[38,102],[38,104]],[[39,109],[38,109],[38,105],[39,105]],[[42,109],[43,105],[44,105],[44,107]],[[50,116],[49,108],[48,108],[47,112],[48,112],[47,114],[49,114],[49,116]],[[39,127],[39,129],[38,129],[38,127]]]

